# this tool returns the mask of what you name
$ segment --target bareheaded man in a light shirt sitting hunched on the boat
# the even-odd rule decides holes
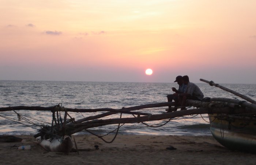
[[[178,94],[178,99],[182,106],[181,110],[185,110],[185,103],[187,99],[202,100],[204,98],[204,94],[197,85],[189,82],[189,78],[187,75],[183,76],[182,80],[184,85],[187,85],[187,90],[185,91],[185,93]]]

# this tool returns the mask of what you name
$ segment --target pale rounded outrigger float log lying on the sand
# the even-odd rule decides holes
[[[50,152],[69,153],[73,148],[73,143],[71,141],[71,137],[69,136],[62,138],[54,137],[51,140],[45,140],[39,137],[37,140],[42,148]]]

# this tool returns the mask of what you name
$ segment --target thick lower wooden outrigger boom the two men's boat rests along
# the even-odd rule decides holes
[[[176,117],[181,117],[185,115],[193,115],[193,114],[240,114],[240,113],[256,113],[256,110],[246,110],[244,108],[233,109],[231,107],[214,107],[214,108],[200,108],[200,109],[188,109],[182,111],[174,111],[172,113],[164,113],[164,114],[154,114],[151,116],[142,116],[135,118],[115,118],[115,119],[96,119],[93,121],[87,121],[80,124],[70,123],[69,127],[72,128],[70,131],[71,134],[82,131],[84,129],[89,129],[92,127],[98,127],[103,125],[117,124],[117,123],[139,123],[146,121],[156,121],[162,119],[172,119]]]

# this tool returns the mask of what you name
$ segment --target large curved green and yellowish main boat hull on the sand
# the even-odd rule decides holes
[[[231,150],[256,152],[256,121],[208,115],[211,133],[221,145]]]

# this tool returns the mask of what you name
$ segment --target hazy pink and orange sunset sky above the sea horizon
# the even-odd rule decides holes
[[[0,0],[0,80],[188,75],[195,83],[256,84],[255,7],[255,0]]]

